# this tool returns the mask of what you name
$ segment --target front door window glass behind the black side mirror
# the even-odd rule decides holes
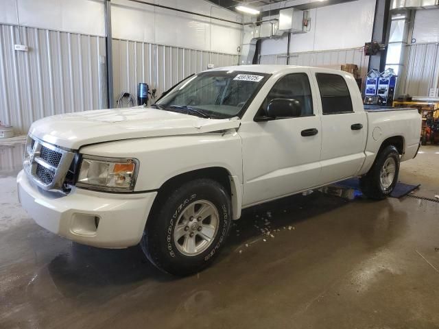
[[[301,108],[300,117],[313,115],[313,99],[311,95],[311,86],[309,85],[308,75],[306,73],[292,73],[281,77],[274,84],[270,93],[265,98],[259,114],[265,115],[268,103],[273,99],[295,99]]]

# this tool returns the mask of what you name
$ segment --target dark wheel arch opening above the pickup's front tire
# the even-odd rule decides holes
[[[163,197],[172,191],[175,186],[185,184],[191,180],[198,178],[209,178],[215,180],[228,192],[230,196],[230,201],[232,204],[232,218],[239,219],[241,217],[241,207],[242,207],[242,185],[239,182],[239,178],[232,175],[228,169],[224,167],[204,167],[201,169],[194,169],[191,171],[185,171],[184,173],[179,173],[174,177],[169,178],[158,188],[158,195],[154,201],[154,206],[160,204],[163,201]],[[153,207],[154,207],[153,206]]]

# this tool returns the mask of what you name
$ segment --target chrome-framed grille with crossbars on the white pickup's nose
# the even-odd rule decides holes
[[[74,157],[74,152],[27,136],[23,167],[41,188],[62,191]]]

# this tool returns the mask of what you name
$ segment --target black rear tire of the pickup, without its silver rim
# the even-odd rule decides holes
[[[392,184],[390,184],[388,188],[384,188],[381,184],[381,168],[388,158],[394,158],[395,160],[395,173]],[[363,194],[369,199],[375,200],[381,200],[385,199],[385,197],[388,197],[398,182],[399,162],[399,152],[396,147],[393,145],[388,145],[387,147],[383,148],[375,159],[372,168],[370,168],[369,172],[362,176],[359,180]]]

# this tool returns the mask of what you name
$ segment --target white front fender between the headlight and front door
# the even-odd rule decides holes
[[[237,184],[243,182],[241,137],[236,131],[185,136],[137,138],[88,145],[82,154],[113,158],[137,158],[139,175],[134,191],[158,190],[167,180],[188,171],[222,167]],[[235,185],[235,184],[232,184]]]

